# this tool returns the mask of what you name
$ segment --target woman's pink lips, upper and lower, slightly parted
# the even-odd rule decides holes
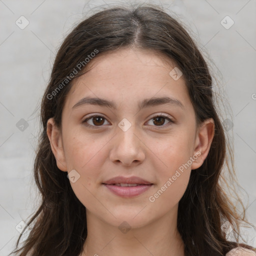
[[[135,176],[117,176],[104,181],[102,184],[107,187],[112,193],[121,197],[137,196],[153,185],[149,181]]]

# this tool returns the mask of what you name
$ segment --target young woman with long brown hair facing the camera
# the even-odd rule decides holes
[[[231,152],[217,112],[205,60],[159,7],[112,7],[80,22],[42,99],[42,201],[14,252],[256,255],[239,243],[243,218],[220,185]]]

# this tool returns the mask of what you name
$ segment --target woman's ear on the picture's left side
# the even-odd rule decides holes
[[[61,131],[55,125],[53,118],[49,118],[47,121],[47,136],[50,141],[51,150],[56,159],[57,167],[62,171],[67,171]]]

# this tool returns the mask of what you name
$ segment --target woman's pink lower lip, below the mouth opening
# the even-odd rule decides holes
[[[111,192],[122,197],[132,197],[139,195],[149,189],[152,184],[149,185],[138,185],[138,186],[117,186],[104,184]]]

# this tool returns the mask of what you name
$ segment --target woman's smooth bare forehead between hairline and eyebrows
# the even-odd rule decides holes
[[[117,105],[167,94],[181,102],[189,101],[182,76],[174,80],[169,74],[174,67],[165,55],[145,49],[124,48],[98,55],[72,85],[67,107],[85,96],[107,98]]]

